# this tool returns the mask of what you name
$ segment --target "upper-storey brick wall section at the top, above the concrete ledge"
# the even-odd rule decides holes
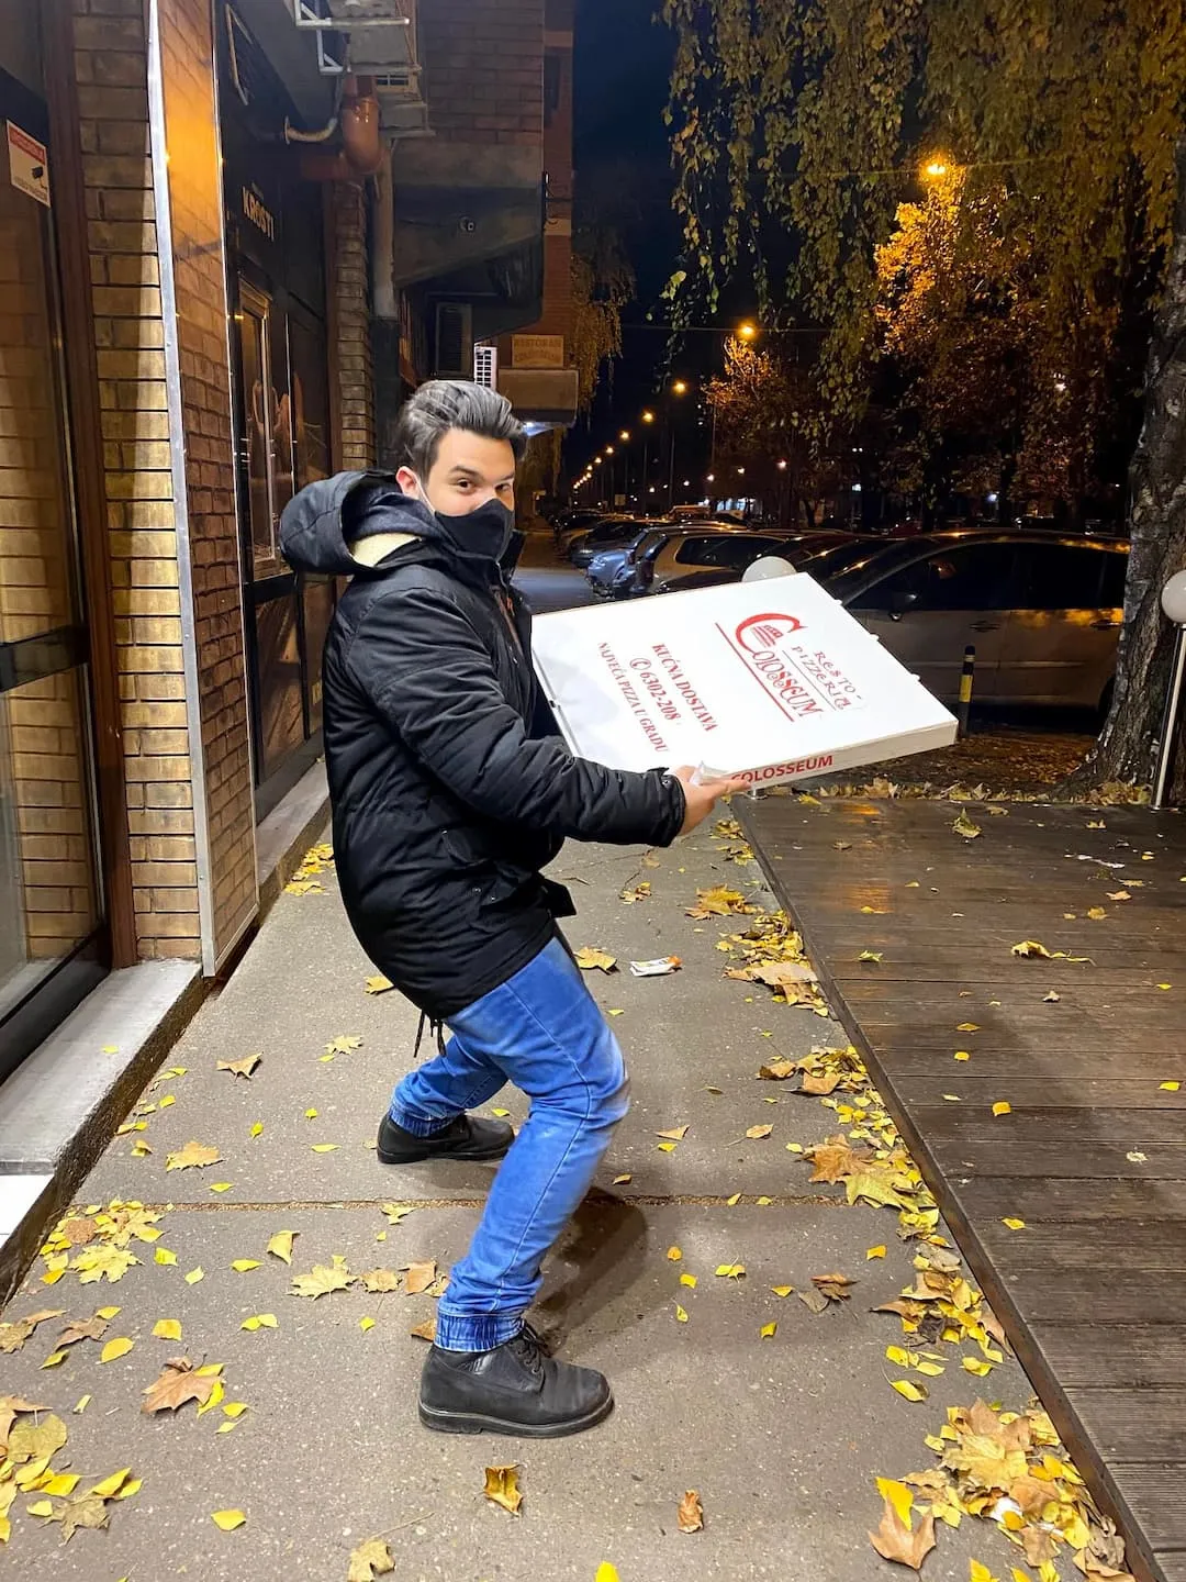
[[[421,6],[424,90],[446,142],[539,144],[544,0],[432,0]]]

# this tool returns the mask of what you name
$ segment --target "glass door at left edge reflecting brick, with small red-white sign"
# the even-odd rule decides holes
[[[108,946],[52,210],[9,168],[47,128],[3,71],[0,120],[22,134],[0,144],[2,1076],[101,976]]]

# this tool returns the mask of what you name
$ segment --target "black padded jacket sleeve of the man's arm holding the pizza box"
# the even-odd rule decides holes
[[[560,737],[528,736],[448,593],[421,587],[376,600],[349,666],[416,758],[476,813],[618,845],[666,846],[680,832],[685,797],[674,777],[607,769],[576,758]]]

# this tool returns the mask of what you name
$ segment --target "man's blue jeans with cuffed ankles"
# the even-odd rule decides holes
[[[585,1196],[626,1114],[618,1041],[560,940],[449,1019],[444,1054],[395,1088],[391,1117],[427,1136],[514,1082],[531,1099],[470,1251],[436,1308],[436,1345],[489,1351],[523,1327],[541,1261]]]

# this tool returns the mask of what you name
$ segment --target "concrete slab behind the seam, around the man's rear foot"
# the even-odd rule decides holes
[[[667,1196],[780,1194],[789,1177],[784,1144],[821,1136],[818,1106],[759,1082],[773,1054],[806,1054],[813,1044],[844,1043],[840,1028],[811,1011],[780,1006],[762,986],[724,981],[727,957],[718,940],[745,918],[696,922],[686,908],[697,888],[729,884],[773,906],[756,867],[726,862],[712,842],[682,843],[642,867],[644,851],[574,846],[557,864],[571,883],[579,916],[566,929],[574,946],[601,944],[620,962],[588,984],[612,1017],[631,1073],[631,1117],[620,1130],[598,1180],[629,1172],[639,1193]],[[585,883],[579,883],[584,878]],[[176,1103],[147,1117],[142,1133],[117,1141],[92,1177],[93,1194],[122,1196],[130,1185],[153,1201],[209,1202],[215,1182],[231,1183],[229,1202],[337,1202],[357,1196],[473,1198],[485,1191],[482,1166],[378,1164],[380,1117],[398,1077],[414,1063],[419,1016],[400,995],[367,995],[375,968],[342,914],[330,872],[323,891],[283,895],[236,975],[169,1055],[147,1103]],[[652,897],[623,905],[623,886],[645,881]],[[633,978],[631,960],[680,956],[669,978]],[[323,1060],[340,1038],[359,1049]],[[422,1054],[432,1052],[425,1036]],[[261,1054],[250,1079],[218,1071],[220,1060]],[[708,1093],[720,1087],[720,1095]],[[767,1104],[765,1099],[778,1099]],[[527,1106],[514,1088],[493,1101],[514,1123]],[[316,1111],[307,1117],[307,1111]],[[201,1118],[199,1118],[201,1117]],[[824,1117],[825,1118],[825,1117]],[[251,1136],[263,1122],[259,1136]],[[745,1133],[773,1123],[772,1137]],[[678,1163],[658,1149],[655,1133],[689,1126]],[[133,1156],[138,1139],[153,1150]],[[169,1171],[168,1155],[190,1139],[218,1147],[207,1169]],[[327,1147],[327,1152],[313,1152]],[[332,1152],[329,1152],[332,1147]]]

